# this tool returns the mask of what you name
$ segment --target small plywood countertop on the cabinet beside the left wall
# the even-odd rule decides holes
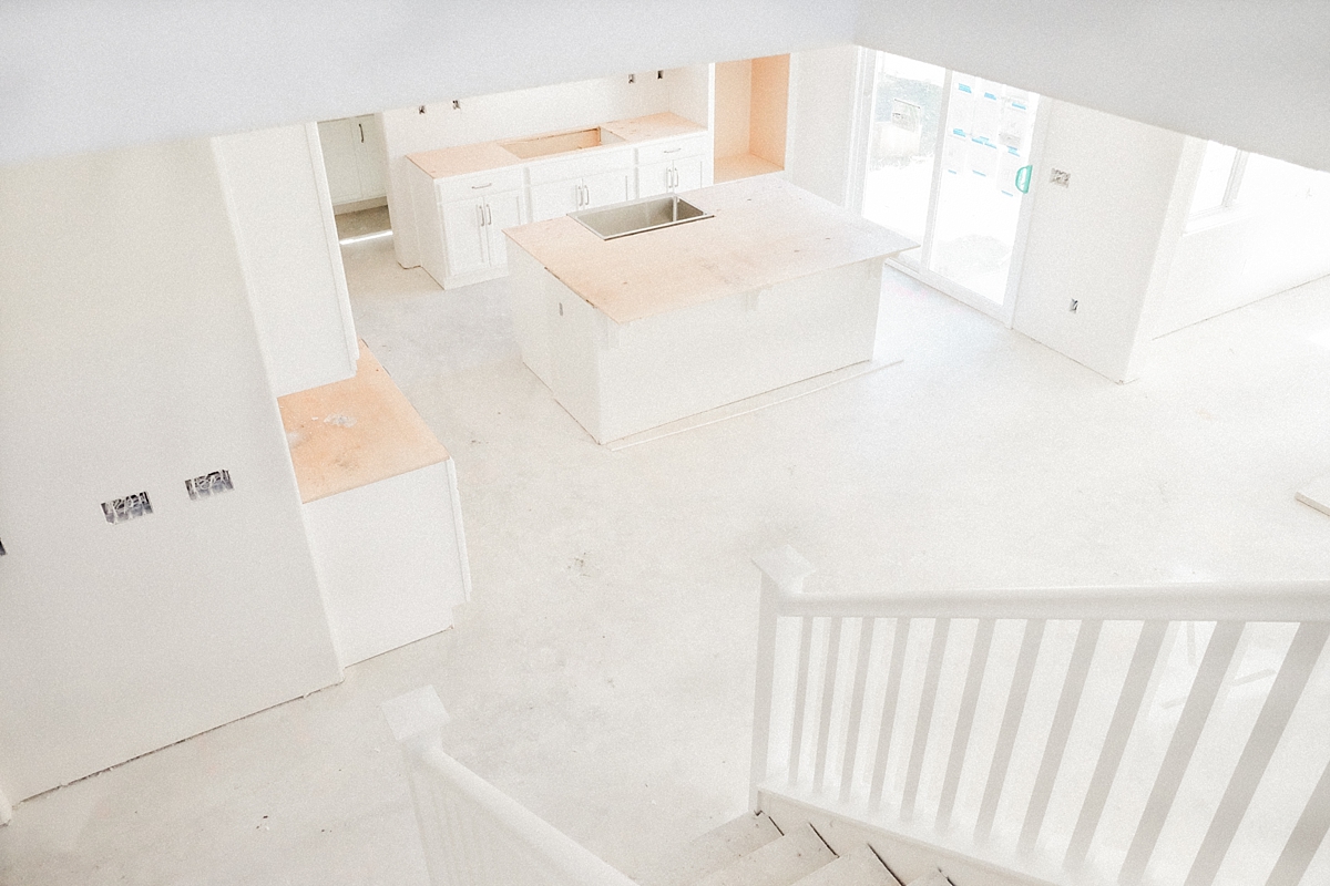
[[[448,458],[364,341],[354,377],[278,397],[277,404],[302,502]]]

